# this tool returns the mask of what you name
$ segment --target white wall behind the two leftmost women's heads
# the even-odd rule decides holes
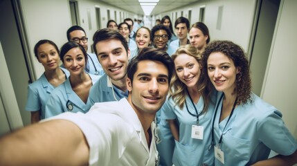
[[[50,39],[60,48],[67,41],[66,30],[71,26],[68,0],[20,0],[28,45],[37,77],[44,73],[34,55],[34,46],[41,39]]]

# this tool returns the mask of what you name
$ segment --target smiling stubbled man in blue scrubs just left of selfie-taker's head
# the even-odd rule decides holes
[[[93,36],[93,50],[105,75],[92,86],[89,94],[91,103],[127,98],[126,78],[130,50],[126,39],[117,30],[98,30]]]

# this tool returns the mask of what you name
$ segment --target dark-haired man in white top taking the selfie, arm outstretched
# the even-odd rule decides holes
[[[62,113],[1,138],[0,165],[156,165],[153,121],[173,67],[167,53],[143,48],[128,66],[127,99],[96,103],[85,114]]]

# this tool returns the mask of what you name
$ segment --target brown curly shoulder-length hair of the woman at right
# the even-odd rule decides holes
[[[246,104],[252,102],[251,100],[251,77],[249,74],[249,61],[241,46],[234,44],[231,41],[213,41],[206,46],[201,59],[201,74],[208,77],[207,61],[211,53],[223,53],[233,60],[236,68],[239,68],[239,73],[236,75],[234,92],[237,95],[237,104]],[[208,89],[213,89],[213,84],[210,79],[205,79],[203,84],[208,86]],[[210,97],[210,94],[208,94]]]

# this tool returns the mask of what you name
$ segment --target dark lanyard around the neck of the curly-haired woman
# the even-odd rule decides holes
[[[219,103],[222,101],[222,98],[223,98],[223,96],[224,96],[224,93],[221,95],[221,97],[219,98],[219,102],[217,102],[217,106],[216,106],[216,108],[215,108],[215,116],[214,116],[214,118],[213,118],[213,124],[212,124],[212,131],[211,131],[211,145],[215,145],[215,138],[214,138],[214,124],[215,124],[215,118],[216,118],[216,116],[217,116],[217,108],[219,107]],[[225,130],[225,128],[226,128],[226,126],[227,126],[227,124],[228,124],[228,122],[229,122],[229,120],[231,119],[231,116],[233,115],[233,111],[234,111],[234,109],[235,109],[235,106],[236,106],[236,103],[237,103],[237,98],[235,99],[235,102],[234,102],[234,104],[233,104],[233,108],[232,108],[232,111],[231,111],[231,113],[230,113],[230,116],[229,116],[229,118],[228,118],[228,120],[227,120],[227,122],[226,122],[226,124],[225,124],[225,127],[224,127],[224,129],[223,129],[223,131],[222,131],[222,134],[221,134],[221,136],[220,136],[220,138],[219,138],[219,145],[222,143],[222,138],[223,138],[223,133],[224,133],[224,130]],[[222,103],[222,108],[221,108],[221,113],[222,113],[222,109],[223,109],[223,103]],[[210,145],[210,147],[211,147],[211,145]],[[208,148],[208,150],[210,150],[210,147]]]

